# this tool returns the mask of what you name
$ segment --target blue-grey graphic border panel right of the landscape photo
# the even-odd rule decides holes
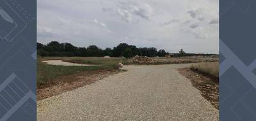
[[[220,1],[220,120],[256,120],[256,1]]]

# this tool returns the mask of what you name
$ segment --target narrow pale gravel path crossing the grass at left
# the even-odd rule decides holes
[[[101,65],[91,65],[91,64],[76,64],[72,62],[64,62],[62,60],[44,60],[43,62],[46,62],[50,65],[57,65],[57,66],[101,66]]]

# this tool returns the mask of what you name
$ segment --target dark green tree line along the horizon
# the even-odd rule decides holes
[[[46,45],[37,43],[37,55],[41,57],[54,56],[54,57],[134,57],[135,55],[147,56],[147,57],[164,57],[169,55],[164,49],[158,50],[154,47],[138,48],[134,45],[128,45],[127,43],[120,43],[112,48],[106,48],[102,50],[96,45],[90,45],[86,47],[77,47],[70,43],[59,43],[58,41],[51,41]],[[180,56],[194,56],[195,53],[185,53],[182,49],[179,53],[173,53],[175,57]],[[211,54],[210,54],[211,55]]]

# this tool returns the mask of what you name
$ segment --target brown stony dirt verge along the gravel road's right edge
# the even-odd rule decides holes
[[[205,75],[200,71],[191,70],[190,68],[178,69],[180,75],[188,78],[196,89],[201,91],[201,95],[209,101],[212,106],[219,109],[219,79]]]

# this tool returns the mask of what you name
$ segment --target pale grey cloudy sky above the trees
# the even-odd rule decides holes
[[[38,42],[218,53],[218,0],[39,0]]]

